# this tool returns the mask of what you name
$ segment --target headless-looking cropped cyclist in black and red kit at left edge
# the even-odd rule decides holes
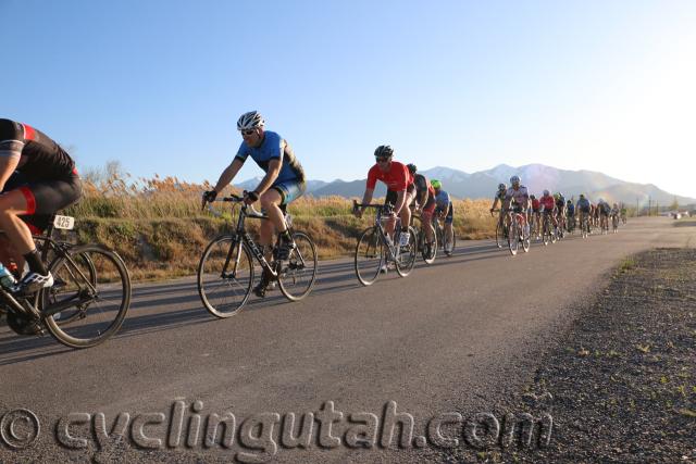
[[[82,197],[75,162],[44,133],[0,118],[0,229],[20,268],[23,260],[29,266],[15,291],[26,294],[52,286],[53,276],[41,262],[32,230],[46,228],[53,213]],[[3,254],[0,259],[8,262]]]

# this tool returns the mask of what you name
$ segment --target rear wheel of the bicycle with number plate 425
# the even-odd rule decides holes
[[[130,276],[115,252],[100,244],[71,248],[49,266],[54,284],[41,292],[49,333],[71,348],[105,341],[130,306]]]

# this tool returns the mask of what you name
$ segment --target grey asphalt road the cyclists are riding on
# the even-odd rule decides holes
[[[228,319],[204,311],[192,279],[137,286],[119,335],[88,350],[0,327],[0,461],[423,461],[432,446],[420,438],[408,449],[396,438],[370,447],[371,437],[378,443],[388,435],[389,402],[413,416],[414,437],[443,413],[490,411],[497,398],[524,386],[545,342],[627,254],[696,246],[696,227],[673,225],[634,220],[617,235],[535,243],[517,256],[488,240],[460,242],[452,258],[419,262],[406,278],[390,272],[366,288],[351,261],[324,262],[307,300],[288,303],[275,291]],[[330,402],[343,413],[332,429],[339,441],[328,437]],[[40,431],[13,450],[8,441],[24,446],[36,431],[16,419],[22,413],[9,414],[18,409],[36,415]],[[226,412],[247,438],[207,448],[210,417]],[[279,438],[288,413],[298,426],[311,412],[309,448],[290,448]],[[113,434],[124,424],[112,429],[117,415],[128,413],[127,444],[90,430],[97,413]],[[58,444],[63,428],[86,441],[63,436]],[[356,448],[348,429],[366,448]]]

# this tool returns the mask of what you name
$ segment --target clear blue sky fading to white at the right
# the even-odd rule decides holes
[[[696,1],[0,0],[0,117],[83,167],[216,180],[256,109],[311,179],[362,178],[389,143],[696,197]]]

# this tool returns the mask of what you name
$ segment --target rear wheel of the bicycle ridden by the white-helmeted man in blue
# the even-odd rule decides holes
[[[316,280],[316,248],[304,233],[293,234],[295,249],[287,261],[276,264],[278,286],[290,301],[299,301],[307,297]]]

